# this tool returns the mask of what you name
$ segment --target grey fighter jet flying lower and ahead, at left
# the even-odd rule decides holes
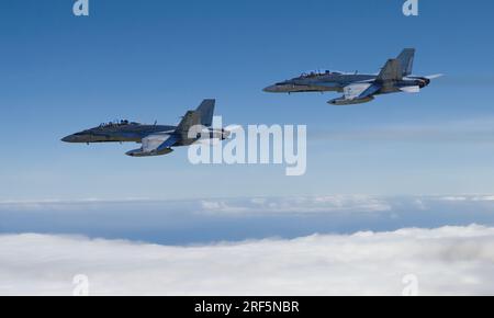
[[[172,147],[190,146],[199,140],[224,140],[232,132],[214,129],[215,100],[204,100],[195,111],[189,111],[178,126],[145,125],[128,121],[101,124],[61,139],[65,143],[138,143],[139,149],[126,152],[131,157],[168,155]]]

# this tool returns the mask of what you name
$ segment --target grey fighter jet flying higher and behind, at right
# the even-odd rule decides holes
[[[406,92],[418,93],[442,75],[412,76],[415,49],[404,49],[397,58],[386,61],[379,75],[348,73],[339,71],[311,71],[302,76],[267,87],[269,93],[328,92],[344,93],[328,101],[332,105],[361,104],[374,100],[375,95]]]

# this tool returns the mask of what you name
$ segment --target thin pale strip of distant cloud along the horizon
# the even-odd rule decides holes
[[[285,197],[240,197],[213,200],[167,201],[159,198],[120,198],[120,200],[41,200],[41,201],[0,201],[0,212],[72,212],[97,211],[102,208],[143,208],[155,207],[176,211],[187,208],[194,213],[206,214],[267,214],[267,213],[379,213],[390,212],[403,205],[426,211],[430,204],[471,203],[471,209],[479,209],[479,203],[494,201],[493,194],[465,195],[422,195],[422,196],[377,196],[377,195],[306,195]],[[448,205],[449,206],[449,205]]]

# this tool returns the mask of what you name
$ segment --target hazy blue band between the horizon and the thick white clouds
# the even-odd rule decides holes
[[[314,232],[494,226],[493,195],[318,195],[191,201],[1,202],[1,234],[81,235],[158,245],[211,243]]]

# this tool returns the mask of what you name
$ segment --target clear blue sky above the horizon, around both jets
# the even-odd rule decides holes
[[[494,192],[493,1],[0,2],[0,201]],[[332,107],[261,89],[312,68],[375,72],[416,47],[417,95]],[[192,167],[187,149],[66,145],[114,118],[175,124],[216,98],[227,124],[305,124],[308,169]]]

